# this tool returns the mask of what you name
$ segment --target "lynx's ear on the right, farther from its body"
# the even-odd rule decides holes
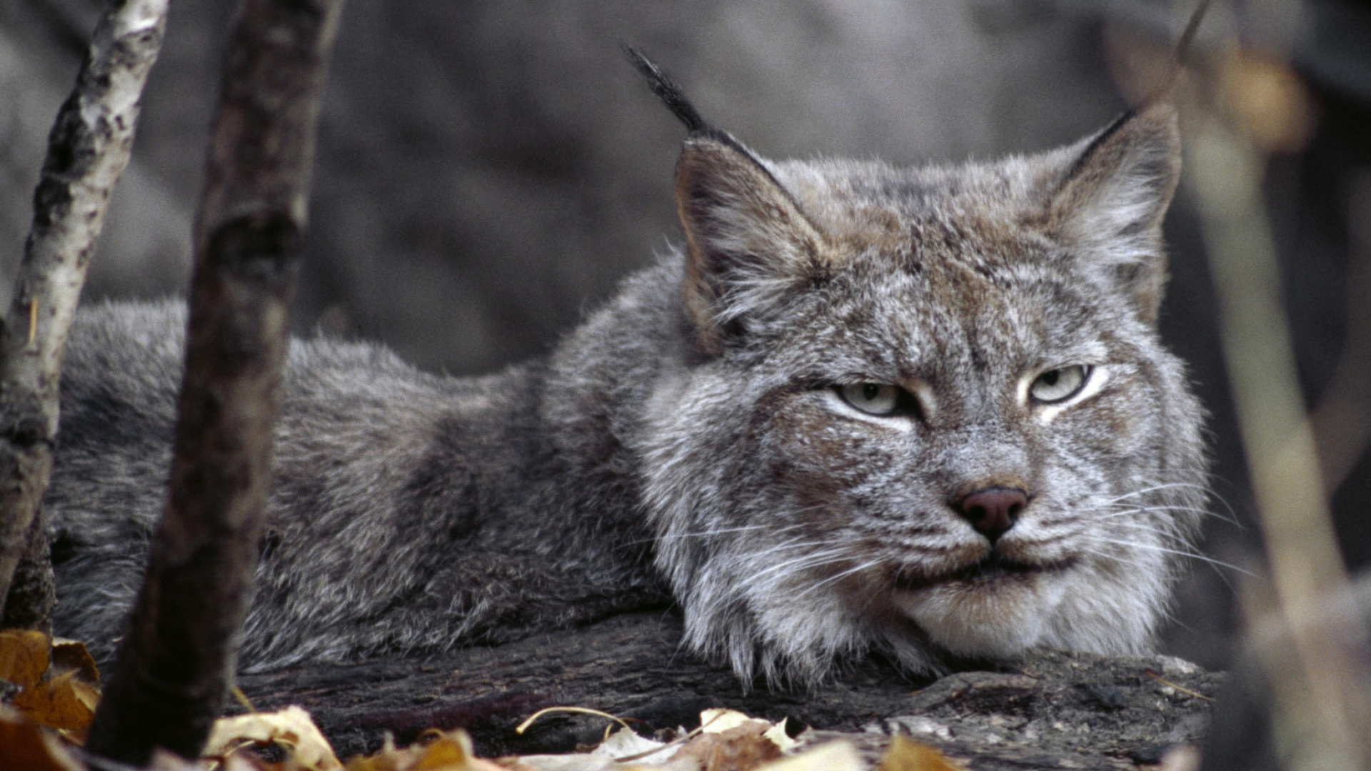
[[[1179,178],[1176,112],[1158,103],[1082,143],[1047,207],[1057,237],[1123,289],[1148,322],[1157,318],[1167,278],[1161,218]]]

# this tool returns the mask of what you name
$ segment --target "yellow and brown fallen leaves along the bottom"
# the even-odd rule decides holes
[[[80,750],[100,701],[100,674],[85,646],[43,632],[0,632],[0,768],[88,771]],[[0,683],[0,685],[4,685]],[[868,771],[857,748],[832,741],[813,748],[772,723],[732,709],[706,709],[701,727],[672,741],[642,737],[624,720],[590,752],[476,757],[462,731],[430,728],[396,748],[389,735],[376,755],[341,763],[300,707],[250,712],[215,722],[204,753],[184,760],[154,755],[147,771]],[[526,727],[543,713],[525,722]],[[613,724],[610,726],[613,727]],[[938,749],[895,737],[876,771],[958,771]]]

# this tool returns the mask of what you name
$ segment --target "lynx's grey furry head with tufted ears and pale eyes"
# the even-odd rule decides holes
[[[1174,111],[919,169],[772,162],[688,114],[692,355],[643,476],[690,645],[798,680],[871,649],[1145,652],[1205,499],[1156,332]]]

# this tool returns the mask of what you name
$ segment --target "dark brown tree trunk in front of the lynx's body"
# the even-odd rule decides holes
[[[270,482],[314,129],[341,0],[239,7],[195,232],[167,505],[86,748],[195,756],[223,708]]]

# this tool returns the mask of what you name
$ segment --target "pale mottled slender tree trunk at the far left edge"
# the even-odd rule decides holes
[[[48,137],[33,228],[0,332],[3,626],[51,627],[52,569],[37,512],[52,469],[62,354],[106,204],[129,162],[166,7],[167,0],[110,5]]]

